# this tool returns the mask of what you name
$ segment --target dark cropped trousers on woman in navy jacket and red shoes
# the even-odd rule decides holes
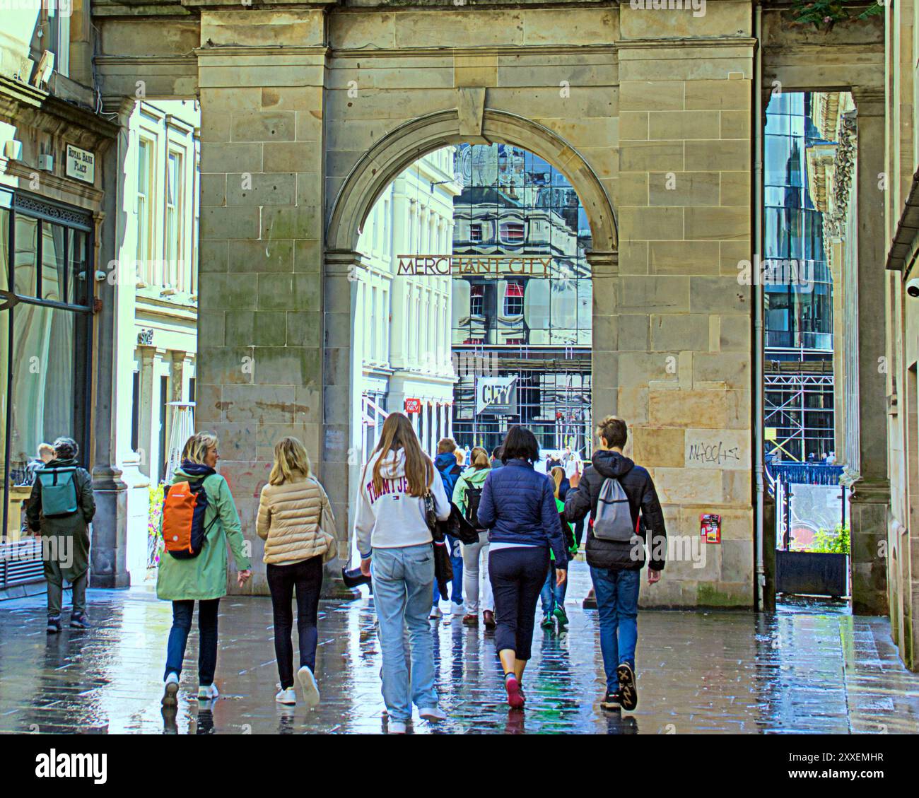
[[[494,593],[494,647],[513,649],[529,659],[539,591],[549,572],[549,550],[540,546],[488,553],[488,578]]]

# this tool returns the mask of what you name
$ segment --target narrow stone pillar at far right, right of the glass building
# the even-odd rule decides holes
[[[886,371],[884,318],[884,89],[854,86],[857,108],[857,451],[848,452],[848,473],[856,473],[849,500],[852,554],[852,611],[888,612],[887,511],[891,484],[887,473]],[[857,462],[852,462],[857,457]]]

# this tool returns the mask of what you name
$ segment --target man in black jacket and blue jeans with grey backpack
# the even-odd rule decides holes
[[[596,436],[600,448],[594,452],[591,464],[580,478],[572,476],[572,487],[565,498],[565,519],[578,521],[588,512],[591,516],[587,564],[596,592],[600,648],[607,673],[607,693],[600,705],[604,709],[617,709],[621,705],[631,711],[638,703],[635,644],[644,545],[647,543],[650,554],[648,584],[653,585],[664,570],[667,533],[651,474],[622,454],[628,439],[626,423],[616,416],[607,416],[597,426]],[[597,500],[607,479],[618,480],[629,499],[632,527],[636,530],[631,542],[604,541],[594,534]]]

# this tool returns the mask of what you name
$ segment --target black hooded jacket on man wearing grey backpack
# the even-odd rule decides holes
[[[607,477],[615,477],[629,498],[632,524],[641,541],[649,546],[650,566],[663,571],[667,557],[667,532],[664,529],[664,512],[657,498],[651,474],[635,465],[618,451],[598,450],[591,464],[584,469],[580,485],[568,491],[565,497],[565,519],[579,521],[587,513],[596,518],[596,502],[600,488]],[[639,523],[641,519],[641,523]],[[648,540],[648,531],[651,539]],[[594,537],[593,524],[587,533],[587,564],[613,571],[640,571],[644,565],[644,545],[601,541]]]

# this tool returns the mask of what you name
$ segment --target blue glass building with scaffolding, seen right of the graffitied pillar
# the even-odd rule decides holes
[[[766,108],[766,452],[786,461],[834,449],[833,283],[808,191],[806,150],[823,142],[811,101],[777,94]]]

